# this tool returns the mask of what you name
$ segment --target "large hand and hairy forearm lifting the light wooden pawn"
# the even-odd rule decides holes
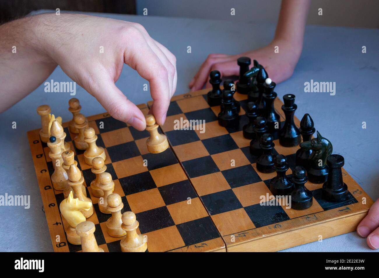
[[[32,35],[26,34],[23,29]],[[176,59],[167,48],[153,40],[140,24],[82,14],[42,14],[2,25],[0,34],[9,35],[0,44],[0,59],[6,55],[3,48],[10,53],[12,45],[17,43],[28,52],[28,57],[24,57],[28,60],[14,62],[22,55],[11,56],[14,59],[4,57],[9,58],[14,71],[1,77],[6,98],[12,97],[1,110],[33,91],[56,65],[60,65],[111,116],[143,130],[146,127],[143,113],[114,84],[125,63],[149,81],[154,101],[152,113],[158,124],[164,123],[169,101],[176,89]],[[104,53],[100,53],[100,46]],[[32,64],[34,70],[28,68],[23,73],[22,69],[15,67],[17,64],[24,68]],[[8,72],[9,68],[4,70],[0,67],[0,73],[5,71]],[[31,76],[28,78],[38,82],[14,86],[15,78],[22,80],[22,75]]]

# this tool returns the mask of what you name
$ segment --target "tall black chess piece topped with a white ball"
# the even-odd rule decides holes
[[[266,118],[267,127],[271,133],[279,132],[280,129],[280,116],[274,109],[274,101],[278,96],[276,92],[274,92],[275,86],[275,82],[271,81],[270,78],[267,78],[265,84],[263,84],[265,92],[262,95],[263,101],[265,102],[265,109],[263,110],[262,117]]]

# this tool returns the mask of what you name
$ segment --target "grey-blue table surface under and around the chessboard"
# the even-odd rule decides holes
[[[43,11],[38,11],[43,12]],[[262,47],[273,38],[275,26],[228,21],[173,17],[96,14],[141,23],[150,36],[162,43],[177,57],[178,85],[176,94],[188,92],[188,83],[209,53],[242,53]],[[192,53],[187,53],[190,45]],[[362,46],[367,53],[362,53]],[[334,153],[345,157],[345,168],[362,188],[376,200],[379,197],[377,138],[378,53],[379,30],[325,26],[307,26],[304,49],[293,76],[276,87],[279,98],[287,93],[296,95],[301,118],[310,113],[316,129],[327,137]],[[47,79],[71,81],[58,67]],[[336,82],[336,94],[305,93],[304,82]],[[116,85],[134,103],[151,99],[143,91],[146,80],[125,66]],[[84,115],[105,110],[84,89],[78,88]],[[44,85],[0,114],[0,195],[30,195],[30,209],[0,207],[0,251],[53,251],[49,230],[42,211],[33,160],[26,132],[41,126],[36,107],[49,104],[55,115],[70,119],[67,102],[69,93],[45,93]],[[16,121],[17,129],[12,129]],[[362,129],[362,122],[367,128]],[[375,141],[374,141],[375,140]],[[366,239],[356,232],[324,239],[284,251],[366,252]],[[374,251],[375,252],[375,251]]]

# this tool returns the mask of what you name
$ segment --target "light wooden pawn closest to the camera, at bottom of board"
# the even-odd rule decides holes
[[[132,211],[127,211],[122,214],[122,229],[126,231],[125,238],[121,239],[122,252],[145,252],[147,249],[147,241],[143,235],[137,233],[139,226],[136,220],[136,215]]]

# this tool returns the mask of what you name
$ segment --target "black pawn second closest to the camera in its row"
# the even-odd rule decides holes
[[[273,177],[269,183],[271,193],[274,196],[290,195],[294,184],[286,175],[288,168],[290,168],[287,158],[282,154],[278,154],[274,159],[274,165],[276,177]]]

